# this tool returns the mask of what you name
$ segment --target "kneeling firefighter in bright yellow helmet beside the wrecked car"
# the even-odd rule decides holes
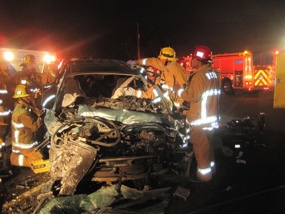
[[[36,132],[43,126],[40,110],[32,105],[29,88],[18,85],[13,98],[16,98],[12,113],[12,153],[11,164],[31,167],[32,160],[43,158],[43,153],[35,151]]]

